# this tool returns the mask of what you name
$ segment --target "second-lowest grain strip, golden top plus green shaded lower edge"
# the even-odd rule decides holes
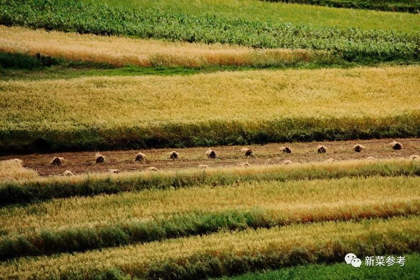
[[[219,230],[419,215],[419,182],[391,177],[247,183],[5,208],[0,211],[0,259]]]

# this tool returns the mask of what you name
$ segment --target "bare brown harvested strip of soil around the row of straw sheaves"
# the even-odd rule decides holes
[[[394,151],[389,148],[392,139],[373,139],[373,140],[355,140],[355,141],[334,141],[334,142],[310,142],[310,143],[287,143],[293,149],[292,154],[278,153],[280,147],[286,143],[273,143],[268,145],[253,145],[249,148],[253,150],[256,158],[248,158],[247,161],[252,165],[272,165],[282,164],[285,160],[293,163],[304,162],[323,162],[329,158],[336,161],[353,159],[390,159],[390,158],[409,158],[412,155],[420,154],[420,139],[398,139],[404,144],[404,149]],[[349,147],[356,144],[366,146],[363,153],[355,153]],[[328,147],[328,153],[317,154],[314,152],[314,146],[325,145]],[[214,148],[213,148],[214,149]],[[241,146],[219,146],[215,148],[220,157],[217,160],[210,160],[203,153],[203,148],[179,149],[182,158],[177,161],[168,161],[167,155],[171,149],[151,149],[145,151],[148,155],[141,165],[133,162],[133,157],[138,151],[107,151],[102,152],[106,157],[106,163],[96,165],[92,162],[91,152],[72,152],[62,153],[66,159],[65,166],[51,166],[49,161],[51,154],[3,156],[0,160],[9,160],[19,158],[23,160],[24,167],[37,170],[40,175],[62,174],[65,170],[71,170],[75,174],[83,172],[107,172],[108,169],[125,170],[144,170],[148,167],[158,169],[177,169],[177,168],[196,168],[200,165],[208,167],[236,166],[244,159],[243,155],[238,153]]]

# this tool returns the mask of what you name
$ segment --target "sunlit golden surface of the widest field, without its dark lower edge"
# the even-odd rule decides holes
[[[419,66],[3,81],[0,128],[72,131],[80,125],[211,121],[261,127],[279,117],[382,118],[418,112],[418,88]],[[22,109],[28,106],[30,111]]]

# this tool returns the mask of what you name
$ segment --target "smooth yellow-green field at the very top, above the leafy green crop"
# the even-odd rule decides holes
[[[314,2],[318,0],[307,1]],[[345,2],[346,0],[329,1]],[[364,0],[352,1],[360,2]],[[368,1],[370,0],[366,0],[366,2]],[[409,5],[413,7],[419,6],[419,2],[413,0],[372,1],[380,2],[385,5],[391,1],[394,3],[410,1],[411,4]],[[274,3],[258,0],[86,0],[85,2],[96,4],[106,3],[113,7],[123,6],[129,9],[150,8],[171,13],[184,13],[200,16],[215,15],[217,17],[227,19],[234,18],[258,22],[269,21],[271,23],[291,23],[294,25],[305,25],[314,28],[338,27],[341,29],[382,29],[407,33],[416,32],[419,29],[419,15],[417,14],[330,8],[306,4]]]

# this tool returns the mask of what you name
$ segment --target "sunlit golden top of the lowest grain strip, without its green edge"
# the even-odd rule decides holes
[[[296,248],[297,244],[314,258],[317,254],[331,256],[337,250],[366,253],[372,250],[373,245],[369,247],[372,242],[379,244],[381,248],[392,246],[407,250],[408,240],[415,240],[419,234],[419,217],[370,220],[362,223],[293,225],[219,232],[86,253],[21,258],[1,263],[0,271],[3,277],[9,279],[58,279],[60,274],[63,276],[70,271],[118,268],[124,273],[145,278],[150,265],[164,260],[182,265],[188,263],[189,258],[198,255],[223,258],[225,254],[239,257],[275,252],[278,255],[290,256],[291,250]],[[372,241],[374,238],[378,240]]]

